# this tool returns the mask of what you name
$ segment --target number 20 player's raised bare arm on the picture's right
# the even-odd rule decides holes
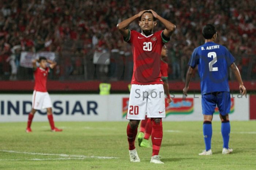
[[[171,23],[170,21],[162,18],[161,16],[159,16],[155,11],[153,10],[149,10],[152,12],[153,16],[158,19],[160,22],[163,23],[163,25],[165,26],[165,29],[163,30],[163,35],[167,38],[169,38],[172,33],[175,31],[176,29],[176,25],[174,25],[173,23]]]

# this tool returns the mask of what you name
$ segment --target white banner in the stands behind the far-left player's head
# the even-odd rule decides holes
[[[27,68],[33,68],[32,61],[39,57],[46,57],[49,60],[55,59],[55,53],[54,52],[21,52],[20,54],[20,66],[27,67]]]

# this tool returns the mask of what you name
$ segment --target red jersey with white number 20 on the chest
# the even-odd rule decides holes
[[[163,39],[162,32],[163,30],[146,36],[129,30],[125,41],[132,45],[134,65],[131,84],[163,84],[160,57],[162,47],[167,41]]]

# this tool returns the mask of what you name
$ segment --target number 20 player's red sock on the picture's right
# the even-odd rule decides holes
[[[162,119],[158,124],[155,123],[154,120],[152,120],[152,136],[151,136],[152,145],[153,145],[152,156],[158,155],[160,146],[162,143],[162,138],[163,138]]]

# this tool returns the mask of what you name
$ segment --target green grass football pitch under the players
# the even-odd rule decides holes
[[[202,122],[163,122],[163,165],[150,163],[152,150],[136,149],[140,163],[129,162],[127,122],[56,122],[63,132],[50,132],[48,122],[0,123],[1,170],[255,170],[256,121],[231,122],[230,147],[222,155],[221,122],[213,122],[213,155],[204,150]]]

